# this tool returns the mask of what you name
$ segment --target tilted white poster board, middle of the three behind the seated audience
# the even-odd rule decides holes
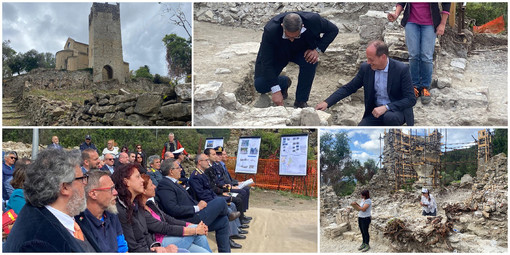
[[[237,147],[236,173],[256,174],[259,163],[260,137],[240,137]]]

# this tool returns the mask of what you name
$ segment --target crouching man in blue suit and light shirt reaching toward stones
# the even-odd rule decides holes
[[[382,41],[368,44],[367,62],[361,64],[356,77],[339,88],[315,109],[325,110],[356,92],[362,86],[365,113],[359,126],[414,125],[416,104],[409,66],[388,57],[388,46]]]

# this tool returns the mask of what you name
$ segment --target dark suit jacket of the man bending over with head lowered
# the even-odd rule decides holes
[[[322,52],[335,39],[338,28],[317,13],[296,12],[303,20],[306,31],[300,39],[290,42],[283,39],[283,18],[288,13],[282,13],[272,18],[264,27],[262,42],[260,43],[257,61],[255,64],[255,77],[265,77],[270,85],[278,84],[278,75],[275,66],[279,63],[288,63],[295,54],[303,54],[308,49],[319,48]],[[321,34],[323,36],[321,37]]]

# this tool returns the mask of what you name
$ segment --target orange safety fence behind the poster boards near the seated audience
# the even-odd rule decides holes
[[[236,174],[236,157],[229,157],[226,166],[232,178],[245,181],[250,178],[255,187],[284,190],[292,193],[317,197],[317,160],[308,160],[306,176],[279,175],[278,159],[259,159],[257,174]]]

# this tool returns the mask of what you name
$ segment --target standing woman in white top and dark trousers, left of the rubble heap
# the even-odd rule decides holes
[[[362,252],[370,250],[370,235],[368,227],[372,220],[372,200],[370,199],[370,192],[368,190],[361,191],[361,203],[352,202],[351,205],[354,209],[358,210],[358,226],[363,237],[363,243],[358,248]]]

